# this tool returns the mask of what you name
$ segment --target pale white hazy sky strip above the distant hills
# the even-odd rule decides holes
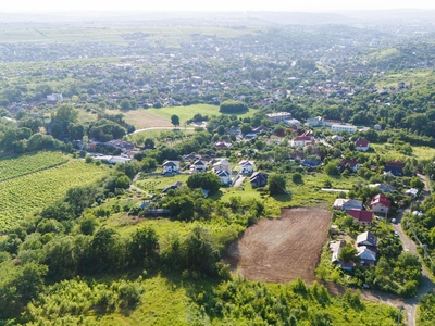
[[[433,0],[1,0],[0,12],[435,9]]]

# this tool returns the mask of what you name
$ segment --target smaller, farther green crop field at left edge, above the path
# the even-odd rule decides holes
[[[67,160],[61,152],[50,151],[4,156],[0,160],[0,181],[53,167]]]

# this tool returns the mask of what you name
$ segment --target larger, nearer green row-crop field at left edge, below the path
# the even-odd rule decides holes
[[[13,228],[35,210],[62,199],[67,189],[90,184],[107,174],[107,167],[71,161],[0,183],[0,233]]]

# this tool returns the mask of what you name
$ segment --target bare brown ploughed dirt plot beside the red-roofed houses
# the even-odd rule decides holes
[[[332,214],[320,208],[283,209],[281,218],[264,218],[233,242],[225,261],[251,280],[311,284],[327,238]]]

